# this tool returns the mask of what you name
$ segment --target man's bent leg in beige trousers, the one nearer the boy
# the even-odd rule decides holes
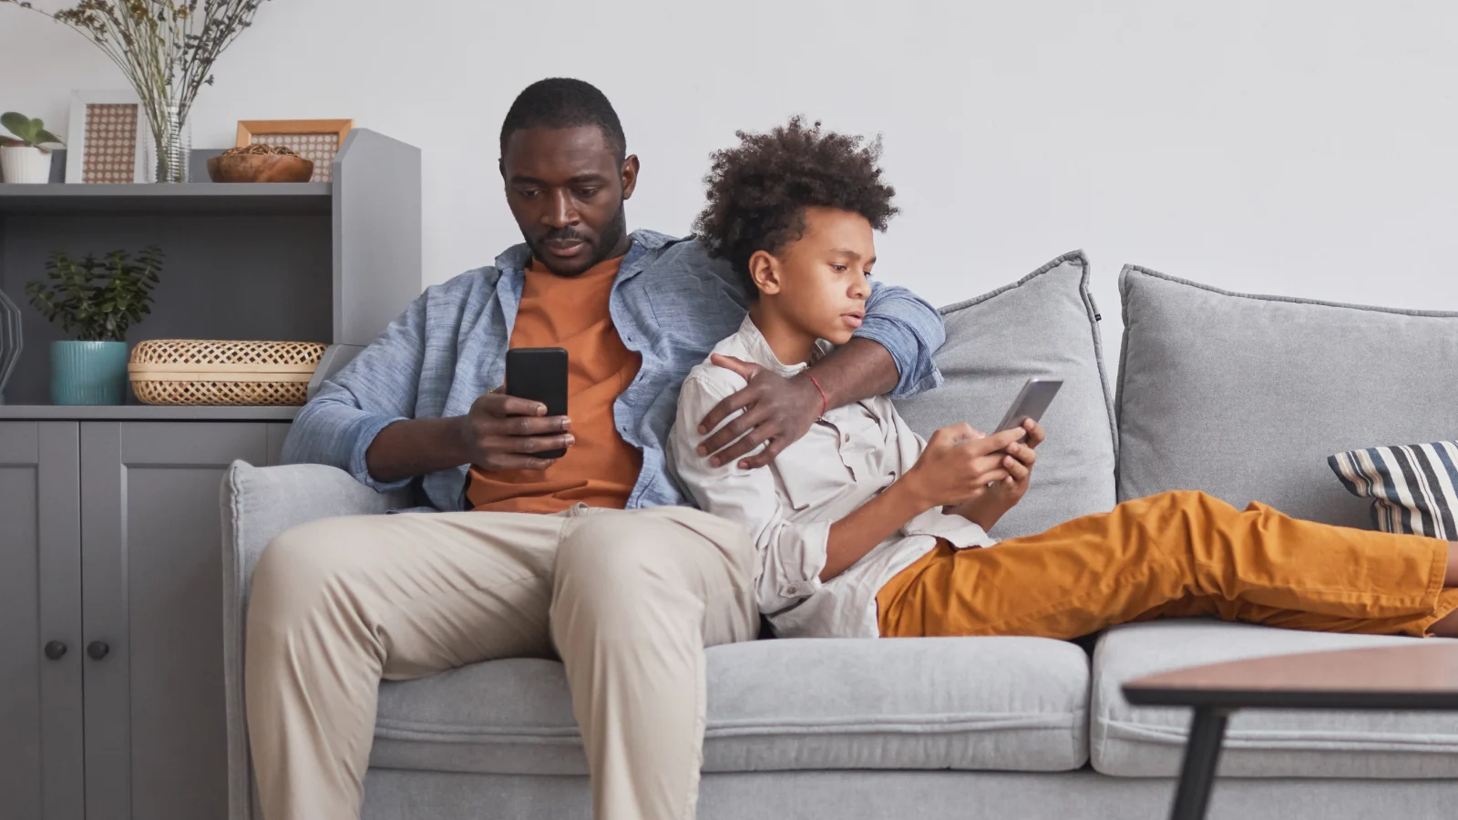
[[[704,740],[704,646],[749,641],[754,543],[688,508],[576,518],[551,635],[588,749],[593,817],[690,820]]]

